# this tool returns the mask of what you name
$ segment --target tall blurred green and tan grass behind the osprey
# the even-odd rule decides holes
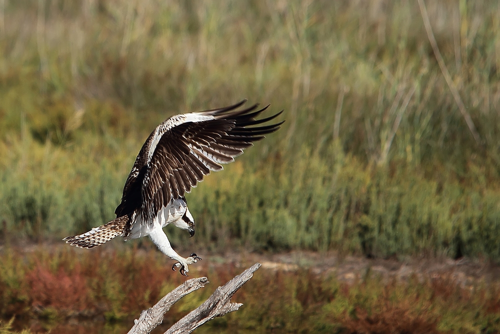
[[[112,219],[158,123],[247,97],[286,123],[188,195],[198,246],[500,261],[500,9],[427,11],[480,144],[413,2],[5,3],[0,233]]]

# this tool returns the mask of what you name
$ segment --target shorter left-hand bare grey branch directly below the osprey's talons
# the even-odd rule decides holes
[[[186,280],[182,285],[170,291],[161,298],[153,307],[140,313],[139,319],[134,320],[134,325],[128,334],[149,333],[163,321],[163,316],[170,307],[183,296],[204,287],[208,283],[206,277]]]

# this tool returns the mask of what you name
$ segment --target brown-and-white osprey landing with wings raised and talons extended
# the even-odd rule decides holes
[[[282,111],[256,120],[268,106],[238,110],[245,102],[172,116],[158,125],[142,145],[125,181],[121,203],[114,211],[116,219],[63,240],[76,247],[93,248],[118,235],[125,241],[149,235],[162,253],[177,261],[172,270],[180,268],[187,276],[187,266],[201,258],[195,253],[187,258],[177,254],[163,227],[174,224],[192,237],[194,219],[184,194],[210,171],[222,170],[221,164],[234,161],[252,142],[276,131],[284,122],[262,125]]]

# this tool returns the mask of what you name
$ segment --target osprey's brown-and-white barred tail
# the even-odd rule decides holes
[[[129,219],[130,218],[127,215],[118,217],[111,220],[107,224],[94,227],[86,233],[68,236],[62,240],[66,241],[66,243],[71,246],[79,248],[93,248],[111,240],[119,234],[122,234]]]

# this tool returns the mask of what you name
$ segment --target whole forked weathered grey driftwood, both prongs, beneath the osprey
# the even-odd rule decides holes
[[[241,274],[228,281],[224,286],[217,287],[215,292],[213,292],[205,302],[177,321],[165,332],[165,334],[190,333],[214,317],[223,316],[237,310],[239,306],[243,304],[232,303],[232,295],[253,276],[253,273],[259,267],[260,263],[255,263]],[[153,307],[142,311],[139,319],[134,320],[134,326],[128,333],[142,334],[151,332],[151,330],[161,323],[166,311],[168,311],[176,301],[186,294],[203,287],[206,283],[208,283],[206,277],[193,278],[185,281],[182,285],[161,298]]]

